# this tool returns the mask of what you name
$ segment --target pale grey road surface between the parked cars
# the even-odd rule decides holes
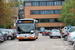
[[[66,48],[62,38],[52,38],[41,36],[37,40],[18,41],[8,40],[0,43],[0,50],[70,50]],[[72,49],[71,49],[72,50]]]

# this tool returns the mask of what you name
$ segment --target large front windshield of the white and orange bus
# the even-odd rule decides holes
[[[30,33],[31,30],[34,30],[34,24],[17,24],[17,31],[18,33]]]

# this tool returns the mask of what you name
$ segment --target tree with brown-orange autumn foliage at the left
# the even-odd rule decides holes
[[[8,3],[0,0],[0,27],[8,28],[13,24],[12,11]]]

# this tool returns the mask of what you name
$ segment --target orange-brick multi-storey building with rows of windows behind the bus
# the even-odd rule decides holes
[[[64,0],[24,0],[24,18],[34,18],[39,21],[39,29],[63,27],[58,21]]]

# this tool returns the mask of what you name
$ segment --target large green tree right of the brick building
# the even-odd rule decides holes
[[[74,13],[70,10],[72,9],[72,0],[65,0],[65,3],[63,4],[62,6],[62,9],[61,9],[61,14],[60,14],[60,17],[59,17],[59,20],[64,22],[64,24],[66,26],[68,25],[72,25],[74,26],[75,22],[72,21],[74,20],[72,17],[74,16]]]

